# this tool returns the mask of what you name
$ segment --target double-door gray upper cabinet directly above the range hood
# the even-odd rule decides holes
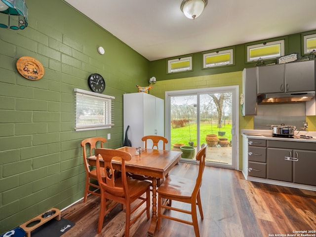
[[[258,67],[258,94],[315,90],[315,61]]]

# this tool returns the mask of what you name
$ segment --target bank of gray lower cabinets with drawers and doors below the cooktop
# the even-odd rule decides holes
[[[248,176],[316,186],[316,143],[250,138],[246,141]]]

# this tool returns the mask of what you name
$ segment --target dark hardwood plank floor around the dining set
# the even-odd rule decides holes
[[[195,177],[197,167],[180,162],[171,173],[191,178]],[[201,201],[204,214],[203,221],[198,219],[201,237],[290,236],[295,235],[295,231],[316,234],[314,191],[249,182],[240,171],[206,166]],[[99,197],[90,195],[86,203],[81,200],[62,211],[63,218],[76,223],[63,237],[123,236],[125,213],[119,208],[105,217],[102,232],[97,235],[99,207]],[[131,227],[130,236],[146,237],[149,224],[143,214]],[[193,226],[162,219],[162,227],[155,236],[191,237],[195,234]]]

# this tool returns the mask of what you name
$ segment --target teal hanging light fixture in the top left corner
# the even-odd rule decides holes
[[[28,26],[28,7],[24,0],[0,0],[0,13],[8,15],[7,22],[0,23],[1,28],[23,30]]]

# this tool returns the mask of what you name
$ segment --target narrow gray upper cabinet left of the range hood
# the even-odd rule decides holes
[[[242,115],[257,115],[257,67],[242,71]]]

